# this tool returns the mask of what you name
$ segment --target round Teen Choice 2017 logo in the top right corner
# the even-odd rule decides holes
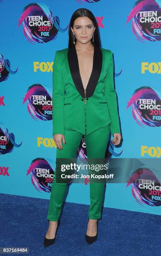
[[[135,37],[144,42],[161,40],[161,1],[138,0],[128,15],[126,24],[132,19]]]

